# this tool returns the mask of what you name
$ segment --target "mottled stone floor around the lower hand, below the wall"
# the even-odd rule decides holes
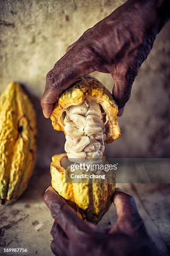
[[[1,247],[28,249],[28,253],[18,255],[53,255],[50,250],[52,241],[50,229],[53,219],[43,202],[45,189],[49,185],[50,173],[47,170],[37,171],[28,189],[17,202],[0,207]],[[162,256],[170,255],[170,185],[117,184],[117,186],[135,197],[148,232]],[[116,218],[115,207],[112,205],[98,224],[99,228],[110,227]]]

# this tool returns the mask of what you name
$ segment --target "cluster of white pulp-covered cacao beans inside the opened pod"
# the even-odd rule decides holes
[[[100,159],[105,150],[105,113],[96,102],[70,106],[64,119],[65,151],[70,161],[75,159]]]

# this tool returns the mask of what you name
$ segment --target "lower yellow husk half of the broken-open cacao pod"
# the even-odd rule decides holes
[[[67,154],[52,156],[52,187],[67,200],[80,218],[97,223],[112,204],[115,179],[112,177],[112,183],[66,183],[66,161]]]

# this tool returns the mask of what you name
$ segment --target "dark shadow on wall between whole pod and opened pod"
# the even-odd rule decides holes
[[[50,118],[46,119],[42,113],[40,98],[33,95],[22,84],[23,90],[29,96],[37,115],[37,158],[35,169],[50,169],[51,157],[64,153],[65,136],[63,132],[55,131]]]

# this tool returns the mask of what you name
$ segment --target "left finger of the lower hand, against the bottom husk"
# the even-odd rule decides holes
[[[90,232],[93,225],[81,220],[67,202],[49,187],[44,195],[44,202],[51,210],[52,217],[69,237],[75,233]]]

